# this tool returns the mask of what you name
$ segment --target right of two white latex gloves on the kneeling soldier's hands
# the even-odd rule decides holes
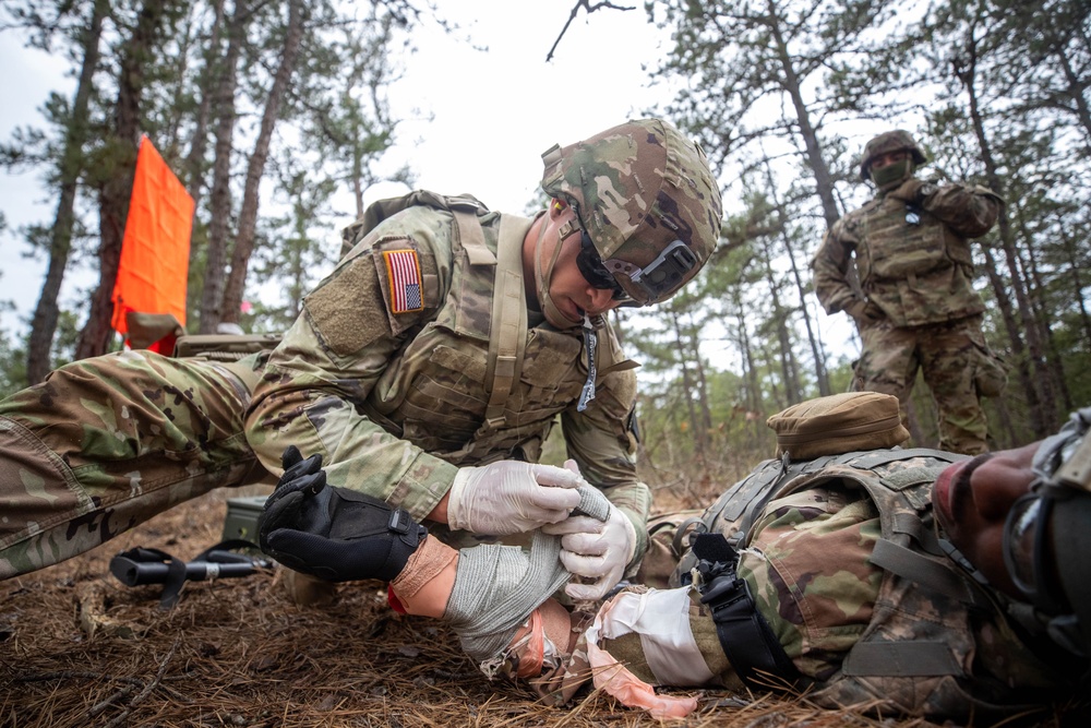
[[[613,504],[606,523],[586,515],[572,516],[543,526],[542,532],[561,536],[561,563],[590,584],[570,582],[564,593],[573,599],[601,599],[625,574],[636,551],[633,522]]]

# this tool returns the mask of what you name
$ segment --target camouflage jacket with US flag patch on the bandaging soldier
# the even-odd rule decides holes
[[[509,244],[521,246],[532,224],[481,214],[493,255],[505,217]],[[485,421],[495,262],[475,262],[445,210],[408,207],[358,240],[352,229],[350,252],[305,297],[253,393],[248,438],[259,457],[276,468],[288,443],[322,453],[329,482],[424,518],[459,466],[536,462],[560,415],[570,457],[643,533],[650,491],[636,478],[636,365],[610,325],[599,332],[598,389],[585,411],[576,410],[588,371],[579,329],[539,323],[524,332],[503,421]],[[419,306],[397,299],[398,251],[419,266]]]

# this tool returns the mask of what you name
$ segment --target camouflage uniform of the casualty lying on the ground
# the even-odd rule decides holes
[[[739,546],[746,548],[740,553],[738,574],[802,676],[796,688],[808,688],[808,700],[816,704],[877,706],[884,714],[985,717],[1011,715],[1017,704],[1064,694],[1086,661],[1081,667],[1071,656],[1058,659],[1056,652],[1043,646],[1050,644],[1044,629],[1036,634],[1020,632],[1031,634],[1027,643],[1021,641],[997,611],[997,601],[1004,604],[1006,598],[986,596],[939,551],[931,513],[932,484],[959,456],[933,457],[930,452],[942,454],[901,451],[902,457],[898,451],[873,451],[850,453],[836,462],[825,458],[826,464],[816,461],[812,468],[804,465],[802,475],[776,486],[774,498],[745,529],[746,537],[740,532],[744,512],[727,513],[731,506],[723,509],[723,500],[703,520],[729,540],[742,538]],[[776,462],[758,466],[755,475],[770,466]],[[738,499],[731,502],[760,502],[760,492],[747,492],[745,484],[733,487]],[[887,500],[888,510],[877,508],[870,496]],[[658,520],[669,523],[672,517]],[[674,535],[664,528],[651,537],[648,559],[659,570],[662,557],[672,551]],[[876,548],[882,541],[886,548]],[[687,563],[687,553],[680,569]],[[670,560],[679,562],[676,557]],[[663,574],[651,574],[645,566],[637,578],[662,584]],[[672,580],[676,583],[679,576],[675,571]],[[640,594],[647,587],[626,590]],[[654,685],[745,691],[696,590],[690,593],[688,623],[704,665],[686,663],[686,671],[711,675],[704,683],[658,679],[637,632],[603,639],[598,646]],[[584,621],[579,629],[586,625]],[[563,666],[532,681],[542,696],[563,704],[588,682],[585,635]],[[1032,651],[1031,644],[1041,652]],[[678,654],[675,658],[681,659]]]

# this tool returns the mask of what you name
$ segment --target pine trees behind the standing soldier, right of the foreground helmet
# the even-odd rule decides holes
[[[646,8],[673,33],[657,76],[684,81],[667,112],[699,139],[728,184],[724,239],[692,312],[704,342],[720,337],[733,354],[711,362],[708,381],[723,366],[739,373],[729,391],[711,395],[712,410],[717,397],[776,410],[791,403],[793,386],[816,395],[824,377],[831,392],[851,386],[855,354],[828,353],[823,339],[843,322],[816,315],[806,264],[829,222],[823,175],[840,210],[861,204],[870,191],[858,177],[859,150],[892,128],[925,143],[924,176],[986,184],[1007,201],[1004,223],[975,251],[986,335],[1012,373],[1008,395],[987,404],[998,444],[1033,437],[1020,362],[1063,372],[1046,408],[1087,404],[1086,367],[1076,362],[1091,348],[1091,276],[1082,274],[1091,262],[1091,7],[668,0]],[[1034,331],[1042,349],[1019,355],[1012,337],[1031,342]],[[687,398],[667,398],[679,386],[667,374],[678,371],[681,350],[666,341],[640,348],[656,360],[645,365],[656,378],[645,391],[660,397],[655,427],[686,419]],[[933,437],[923,384],[913,405],[923,435]]]

